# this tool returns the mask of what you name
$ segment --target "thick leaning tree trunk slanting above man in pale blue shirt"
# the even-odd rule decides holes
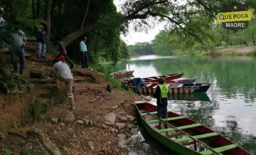
[[[72,41],[74,41],[75,39],[77,39],[78,37],[80,37],[81,35],[83,35],[86,32],[90,32],[92,30],[95,30],[97,28],[101,28],[104,27],[106,25],[104,24],[92,24],[92,25],[88,25],[85,26],[82,30],[76,30],[75,32],[68,34],[66,37],[64,37],[61,41],[64,43],[65,47],[68,46],[68,44],[70,44]]]

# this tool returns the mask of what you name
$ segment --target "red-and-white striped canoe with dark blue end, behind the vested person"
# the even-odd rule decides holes
[[[145,83],[146,84],[146,83]],[[148,84],[148,85],[147,85]],[[144,88],[142,86],[139,87],[140,91],[144,94],[154,94],[156,92],[156,87],[159,83],[147,83],[148,88]],[[205,93],[209,89],[212,84],[204,84],[204,83],[169,83],[167,84],[169,87],[170,94],[184,94],[184,93]],[[129,88],[133,88],[133,86],[128,86]]]

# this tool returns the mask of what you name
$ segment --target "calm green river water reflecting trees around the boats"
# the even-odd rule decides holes
[[[134,77],[185,72],[183,78],[212,83],[206,94],[172,96],[168,109],[220,132],[256,154],[256,58],[252,57],[161,57],[140,56],[116,66],[130,68]],[[156,100],[150,103],[156,104]],[[144,145],[132,154],[164,154],[142,130]],[[149,140],[147,140],[149,138]],[[142,142],[141,142],[142,143]],[[134,149],[136,150],[136,148]]]

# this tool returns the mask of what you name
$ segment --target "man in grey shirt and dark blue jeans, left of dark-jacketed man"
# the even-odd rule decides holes
[[[12,36],[12,46],[13,50],[11,51],[11,63],[13,69],[18,72],[17,68],[17,57],[20,59],[20,74],[24,74],[25,71],[25,50],[24,46],[26,45],[27,38],[25,33],[20,30],[20,22],[15,22],[14,33],[11,33]]]

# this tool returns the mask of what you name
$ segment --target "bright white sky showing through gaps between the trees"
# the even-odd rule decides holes
[[[120,4],[122,4],[124,0],[114,0],[114,4],[116,5],[117,11],[120,11]],[[146,32],[135,32],[132,28],[132,25],[129,25],[129,32],[126,37],[121,34],[121,38],[125,41],[127,45],[134,45],[136,42],[150,42],[154,40],[156,34],[158,34],[161,30],[164,30],[164,24],[156,25],[155,28],[149,29],[148,33]]]

